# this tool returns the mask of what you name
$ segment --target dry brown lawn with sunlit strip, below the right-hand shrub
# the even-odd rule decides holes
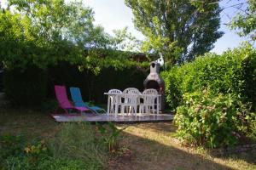
[[[135,124],[122,133],[122,144],[132,151],[129,166],[123,169],[233,169],[256,168],[256,153],[244,152],[212,158],[206,153],[177,146],[170,137],[172,122]]]

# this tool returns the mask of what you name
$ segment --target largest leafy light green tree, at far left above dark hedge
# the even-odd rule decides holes
[[[45,68],[60,59],[76,59],[84,51],[77,44],[91,42],[93,12],[82,3],[9,0],[7,6],[0,12],[0,49],[5,49],[0,60],[5,69]]]

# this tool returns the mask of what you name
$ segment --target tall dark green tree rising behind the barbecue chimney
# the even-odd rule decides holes
[[[189,0],[125,0],[134,24],[146,37],[143,50],[162,54],[170,63],[195,59],[213,48],[220,8],[212,0],[198,10]],[[209,5],[211,4],[211,5]]]

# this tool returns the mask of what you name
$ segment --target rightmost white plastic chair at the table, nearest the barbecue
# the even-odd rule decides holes
[[[139,112],[148,113],[149,111],[153,111],[154,113],[154,106],[155,106],[155,99],[157,98],[158,92],[154,88],[149,88],[143,91],[143,103],[139,105]]]

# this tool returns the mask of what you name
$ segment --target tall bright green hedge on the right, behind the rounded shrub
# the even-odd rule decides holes
[[[194,62],[174,66],[162,73],[166,82],[166,103],[172,110],[181,104],[182,96],[195,91],[212,95],[232,94],[256,106],[256,50],[241,47],[222,55],[206,54]]]

